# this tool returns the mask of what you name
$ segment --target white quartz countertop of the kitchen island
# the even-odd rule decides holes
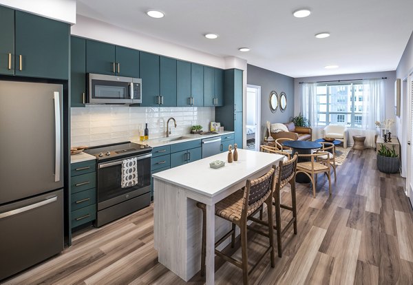
[[[228,163],[228,152],[216,154],[153,174],[153,178],[184,187],[202,195],[213,197],[229,187],[246,180],[254,173],[277,165],[284,156],[260,151],[238,149],[238,161]],[[209,162],[222,160],[225,166],[219,169],[209,167]]]

